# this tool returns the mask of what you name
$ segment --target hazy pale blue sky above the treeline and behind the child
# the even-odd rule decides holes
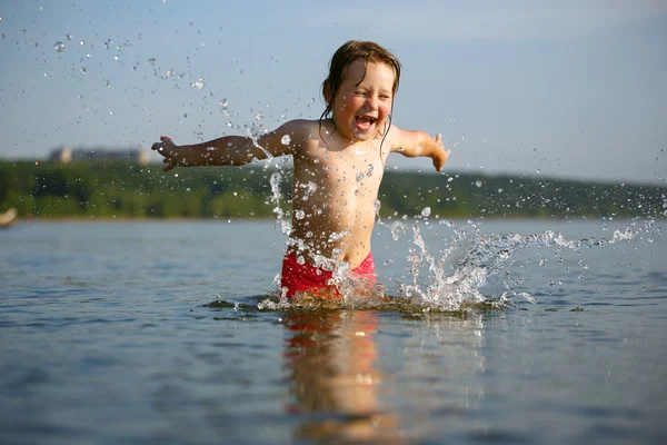
[[[667,182],[667,1],[0,0],[0,159],[317,119],[357,39],[401,60],[394,123],[442,134],[448,171]]]

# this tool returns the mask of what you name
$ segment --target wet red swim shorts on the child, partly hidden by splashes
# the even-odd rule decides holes
[[[376,283],[375,261],[372,254],[368,256],[361,264],[352,269],[357,276],[370,283]],[[285,255],[282,259],[282,279],[280,287],[287,287],[287,297],[291,298],[296,293],[311,291],[334,288],[336,286],[328,284],[334,276],[330,270],[323,270],[308,263],[302,265],[297,261],[297,256],[293,254]]]

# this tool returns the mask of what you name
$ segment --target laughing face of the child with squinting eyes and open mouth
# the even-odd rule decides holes
[[[385,132],[394,101],[394,69],[386,63],[358,59],[350,63],[346,79],[336,92],[334,122],[345,138],[365,141]]]

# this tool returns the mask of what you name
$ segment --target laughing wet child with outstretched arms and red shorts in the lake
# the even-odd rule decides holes
[[[291,155],[292,230],[282,293],[340,297],[341,271],[375,283],[370,238],[389,154],[429,157],[438,171],[449,155],[440,135],[434,139],[391,123],[399,78],[400,62],[391,52],[374,42],[348,41],[331,58],[322,83],[327,109],[319,120],[292,120],[257,140],[227,136],[177,146],[162,136],[152,149],[165,157],[165,171]]]

